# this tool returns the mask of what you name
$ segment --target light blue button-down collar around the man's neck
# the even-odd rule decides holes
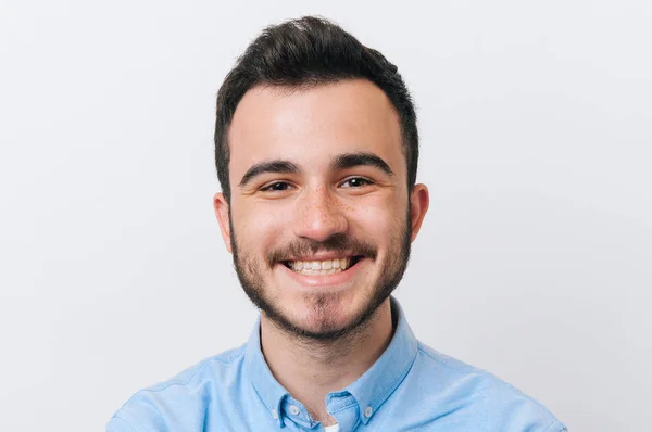
[[[358,402],[360,420],[366,424],[378,408],[389,398],[396,387],[403,381],[414,359],[418,342],[405,320],[399,302],[390,297],[392,318],[396,317],[396,329],[391,342],[366,372],[346,389],[330,393],[328,398],[349,392]],[[263,404],[283,427],[281,404],[289,396],[287,390],[276,381],[261,351],[260,316],[251,332],[246,347],[244,368],[251,383]]]

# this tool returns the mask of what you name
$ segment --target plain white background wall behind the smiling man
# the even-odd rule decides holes
[[[215,94],[318,13],[394,62],[430,212],[417,336],[572,431],[643,431],[652,378],[652,3],[0,4],[0,430],[100,431],[248,336],[212,214]]]

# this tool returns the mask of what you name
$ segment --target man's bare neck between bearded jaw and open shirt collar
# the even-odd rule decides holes
[[[324,399],[360,378],[393,333],[389,298],[360,329],[336,341],[298,339],[261,316],[261,348],[274,378],[324,425],[335,421]]]

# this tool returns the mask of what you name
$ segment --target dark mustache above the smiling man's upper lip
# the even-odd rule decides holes
[[[335,252],[341,255],[364,255],[376,259],[378,250],[373,244],[354,239],[344,233],[330,236],[324,241],[312,239],[297,239],[286,246],[275,249],[267,253],[269,266],[288,261],[291,257],[316,254],[317,252]]]

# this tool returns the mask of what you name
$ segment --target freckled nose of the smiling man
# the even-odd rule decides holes
[[[298,196],[292,225],[294,234],[315,241],[326,241],[349,227],[341,203],[333,191],[323,187],[305,190]]]

